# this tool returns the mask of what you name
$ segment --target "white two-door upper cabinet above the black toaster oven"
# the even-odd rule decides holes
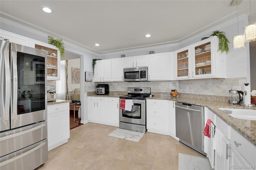
[[[96,61],[94,67],[94,81],[111,81],[111,59]]]

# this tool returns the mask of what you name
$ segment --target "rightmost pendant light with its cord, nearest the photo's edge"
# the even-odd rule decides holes
[[[251,13],[251,1],[250,2],[250,17],[251,22],[248,23],[248,26],[244,26],[244,37],[246,42],[255,42],[256,41],[256,22],[252,22],[252,13]]]

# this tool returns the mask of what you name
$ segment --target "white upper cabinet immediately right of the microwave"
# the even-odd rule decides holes
[[[171,53],[151,54],[148,57],[148,80],[170,80],[171,76]]]

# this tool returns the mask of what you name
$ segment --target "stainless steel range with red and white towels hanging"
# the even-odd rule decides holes
[[[128,95],[119,97],[119,128],[146,132],[146,97],[150,91],[150,87],[128,87]]]

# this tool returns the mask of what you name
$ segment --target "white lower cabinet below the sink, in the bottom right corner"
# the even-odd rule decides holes
[[[216,129],[222,133],[216,144],[215,170],[256,168],[256,146],[216,116]],[[214,136],[216,137],[216,135]],[[217,140],[217,141],[218,141]]]

